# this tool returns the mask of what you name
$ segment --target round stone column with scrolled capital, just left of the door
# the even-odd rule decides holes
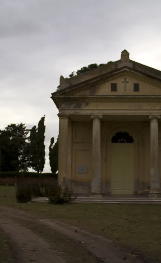
[[[93,120],[91,194],[101,194],[101,125],[102,115],[91,115]]]

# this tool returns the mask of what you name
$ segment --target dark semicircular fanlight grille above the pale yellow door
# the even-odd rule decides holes
[[[133,143],[133,137],[125,132],[125,131],[120,131],[117,132],[111,140],[112,143]]]

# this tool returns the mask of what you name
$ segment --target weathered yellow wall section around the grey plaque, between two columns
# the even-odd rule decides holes
[[[87,166],[87,173],[78,173],[78,166]],[[72,189],[90,193],[92,178],[92,122],[73,122]]]

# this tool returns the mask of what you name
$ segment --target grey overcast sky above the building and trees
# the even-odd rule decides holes
[[[59,77],[91,64],[130,58],[161,70],[160,0],[0,0],[0,129],[37,125],[48,147],[58,135],[50,98]]]

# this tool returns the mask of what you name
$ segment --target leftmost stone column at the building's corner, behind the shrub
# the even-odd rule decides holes
[[[65,186],[67,186],[69,116],[58,114],[58,117],[59,117],[58,184],[64,188]]]

